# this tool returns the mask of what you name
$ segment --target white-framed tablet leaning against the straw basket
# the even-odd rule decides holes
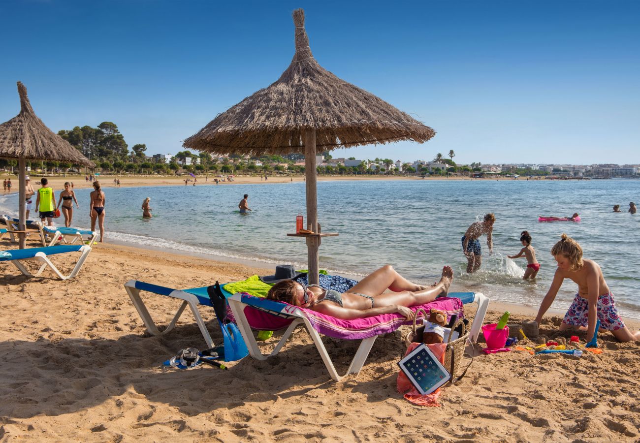
[[[398,362],[420,394],[431,394],[449,381],[451,374],[424,343]]]

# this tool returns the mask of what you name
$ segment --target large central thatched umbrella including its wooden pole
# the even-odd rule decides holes
[[[305,154],[307,227],[317,232],[316,155],[342,147],[435,135],[430,127],[321,67],[309,47],[305,13],[293,12],[296,53],[275,83],[218,115],[184,141],[215,154]],[[318,280],[319,236],[309,236],[309,282]]]

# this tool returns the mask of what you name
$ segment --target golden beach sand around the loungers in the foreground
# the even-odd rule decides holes
[[[5,241],[0,246],[15,247]],[[70,257],[54,261],[67,269],[71,264]],[[228,371],[163,370],[161,362],[175,351],[206,347],[193,317],[186,313],[173,332],[151,337],[122,286],[134,278],[198,287],[270,270],[113,245],[96,246],[79,276],[65,282],[49,271],[28,279],[10,264],[0,266],[8,273],[0,278],[3,442],[640,437],[640,342],[618,344],[609,333],[600,339],[601,355],[479,355],[460,384],[444,390],[442,407],[423,408],[396,392],[396,362],[405,350],[400,333],[379,337],[360,375],[343,382],[330,380],[302,329],[266,361],[247,357]],[[158,323],[170,320],[179,305],[162,296],[146,300]],[[499,303],[492,308],[489,323],[505,309]],[[220,341],[212,310],[202,312],[214,341]],[[521,312],[527,314],[526,308]],[[532,317],[523,314],[514,318]],[[550,316],[543,332],[552,336],[559,321]],[[401,334],[406,333],[404,328]],[[270,349],[274,341],[262,346]],[[339,371],[345,371],[357,344],[325,342]]]

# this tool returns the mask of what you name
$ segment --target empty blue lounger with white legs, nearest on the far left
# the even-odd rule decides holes
[[[76,266],[67,276],[63,275],[58,268],[49,260],[51,255],[66,254],[67,252],[80,252],[81,255],[76,262]],[[67,278],[76,277],[77,273],[81,270],[86,257],[91,252],[90,246],[86,245],[61,245],[61,246],[46,246],[44,248],[27,248],[27,249],[12,249],[6,251],[0,251],[0,262],[10,261],[16,268],[20,270],[24,275],[28,277],[38,277],[49,266],[61,280],[67,280]],[[20,261],[22,260],[36,260],[42,262],[40,269],[34,274],[31,274]]]

